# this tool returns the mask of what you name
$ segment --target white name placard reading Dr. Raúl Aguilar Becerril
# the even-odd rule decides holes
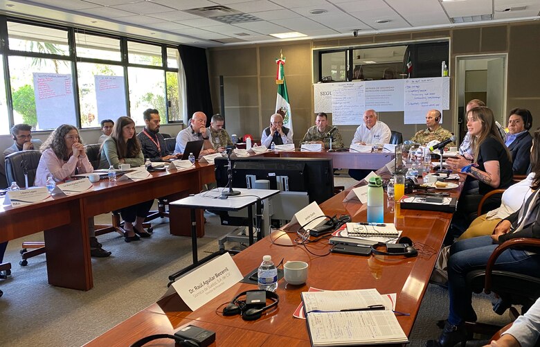
[[[190,274],[179,278],[172,283],[172,287],[183,302],[195,311],[238,283],[242,278],[231,254],[225,253]]]

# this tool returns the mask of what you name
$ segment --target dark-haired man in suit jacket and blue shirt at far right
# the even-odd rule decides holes
[[[508,134],[505,145],[512,154],[512,170],[514,175],[526,175],[530,165],[530,148],[532,136],[529,129],[532,116],[528,109],[512,109],[508,118]]]

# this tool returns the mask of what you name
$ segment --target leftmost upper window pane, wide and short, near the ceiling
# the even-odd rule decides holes
[[[69,55],[67,30],[8,21],[10,50]]]

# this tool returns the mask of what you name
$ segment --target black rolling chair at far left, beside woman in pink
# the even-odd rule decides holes
[[[28,186],[33,186],[35,172],[41,157],[42,152],[39,152],[39,150],[24,150],[9,154],[6,157],[6,178],[9,182],[17,182],[19,187],[24,187],[25,179],[23,167],[26,166],[26,170],[28,170]],[[32,250],[28,251],[28,249]],[[45,253],[43,242],[23,242],[21,249],[22,259],[19,264],[21,266],[26,266],[28,265],[26,259],[39,256],[39,254],[43,253]]]

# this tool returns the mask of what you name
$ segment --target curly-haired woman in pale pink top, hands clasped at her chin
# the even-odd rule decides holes
[[[52,176],[57,182],[69,179],[77,173],[92,172],[92,164],[88,160],[84,145],[80,142],[79,132],[73,125],[62,124],[57,127],[43,143],[42,157],[39,159],[35,173],[35,186],[45,186],[47,177]],[[90,235],[90,255],[105,258],[111,252],[102,249],[96,238],[93,218],[88,220]]]

